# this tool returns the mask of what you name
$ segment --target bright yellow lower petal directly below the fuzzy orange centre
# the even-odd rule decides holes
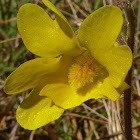
[[[100,84],[93,88],[91,87],[92,86],[84,87],[77,92],[67,84],[48,84],[41,90],[39,95],[47,96],[52,99],[56,105],[68,109],[78,106],[91,98],[98,99],[103,97],[99,92]]]

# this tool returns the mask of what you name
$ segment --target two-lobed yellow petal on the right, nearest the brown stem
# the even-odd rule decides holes
[[[82,23],[78,34],[80,43],[108,70],[115,88],[122,84],[132,64],[132,52],[128,46],[113,46],[122,22],[122,12],[119,8],[105,6]]]

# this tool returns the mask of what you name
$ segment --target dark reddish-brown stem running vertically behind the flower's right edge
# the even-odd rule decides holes
[[[127,44],[133,52],[135,35],[135,16],[128,0],[116,0],[114,4],[124,9],[128,22]],[[129,70],[126,82],[131,86],[132,67]],[[132,140],[132,122],[131,122],[131,88],[124,92],[124,131],[126,140]]]

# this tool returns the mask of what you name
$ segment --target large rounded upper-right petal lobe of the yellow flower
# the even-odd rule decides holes
[[[88,48],[95,59],[100,59],[100,52],[106,52],[114,44],[122,23],[122,12],[118,7],[108,5],[96,10],[79,28],[80,45]]]

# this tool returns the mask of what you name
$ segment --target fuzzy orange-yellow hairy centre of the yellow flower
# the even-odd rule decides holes
[[[93,82],[100,73],[101,65],[87,51],[77,56],[69,69],[68,81],[78,89]]]

